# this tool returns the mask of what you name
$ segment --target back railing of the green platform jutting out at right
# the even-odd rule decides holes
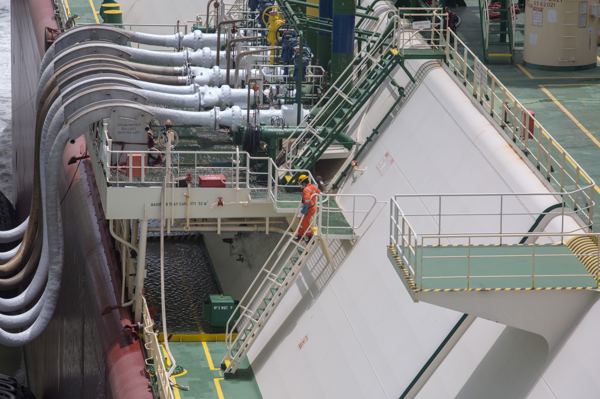
[[[425,213],[407,213],[404,216],[410,216],[413,221],[420,217],[422,219],[418,220],[423,224],[433,223],[436,234],[462,234],[465,231],[456,231],[455,226],[469,226],[468,228],[473,229],[474,225],[481,225],[485,231],[480,232],[500,234],[500,241],[496,244],[506,244],[502,242],[502,234],[515,233],[524,237],[523,234],[526,233],[523,233],[523,228],[538,227],[547,215],[560,217],[560,231],[557,232],[562,234],[571,234],[580,229],[591,232],[594,202],[582,207],[577,207],[577,204],[581,204],[578,198],[582,193],[589,192],[593,187],[592,184],[577,191],[563,193],[396,194],[394,200],[403,201],[405,208],[425,208]],[[538,198],[541,201],[550,198],[547,203],[554,204],[548,205],[541,212],[527,211],[527,207],[539,206],[533,204]],[[523,211],[513,211],[515,208]],[[577,223],[578,227],[575,229],[565,229],[565,219],[569,218],[580,219],[582,223]],[[547,223],[543,226],[545,225]],[[515,229],[515,226],[518,227]]]

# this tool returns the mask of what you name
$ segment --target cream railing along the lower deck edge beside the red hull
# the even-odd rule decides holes
[[[142,295],[142,318],[143,318],[143,337],[144,346],[148,358],[145,359],[146,367],[154,367],[154,377],[156,379],[156,394],[158,399],[175,399],[169,382],[169,374],[164,365],[163,347],[158,342],[158,334],[154,333],[154,322],[150,317],[146,298]]]

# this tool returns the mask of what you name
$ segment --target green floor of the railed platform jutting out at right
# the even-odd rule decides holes
[[[535,249],[535,281],[532,279],[533,251]],[[596,282],[568,246],[562,244],[490,245],[471,246],[470,265],[466,256],[468,246],[419,247],[423,255],[422,288],[425,289],[478,289],[542,287],[595,287]],[[555,256],[552,256],[555,255]],[[556,256],[562,255],[562,256]],[[419,255],[420,256],[420,255]],[[428,258],[441,256],[442,258]],[[464,256],[454,258],[453,256]],[[469,271],[470,269],[470,271]],[[418,274],[421,270],[417,271]],[[427,279],[425,277],[470,277]],[[583,274],[585,276],[564,276]],[[550,277],[541,277],[550,275]],[[559,276],[563,275],[563,276]],[[526,276],[526,277],[482,277]]]

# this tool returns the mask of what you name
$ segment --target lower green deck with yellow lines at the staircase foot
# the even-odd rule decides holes
[[[189,391],[174,388],[175,399],[262,399],[248,359],[233,377],[223,379],[220,362],[227,352],[224,342],[169,342],[169,348],[185,369],[173,380],[190,387]]]

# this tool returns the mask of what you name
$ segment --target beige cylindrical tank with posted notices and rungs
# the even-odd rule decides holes
[[[523,65],[550,71],[595,68],[597,4],[598,0],[527,0]]]

